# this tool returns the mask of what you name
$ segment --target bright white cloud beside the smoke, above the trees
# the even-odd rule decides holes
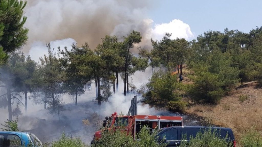
[[[188,24],[179,19],[174,19],[169,23],[156,24],[152,29],[152,38],[161,40],[167,32],[172,34],[171,39],[178,37],[189,40],[194,36]]]

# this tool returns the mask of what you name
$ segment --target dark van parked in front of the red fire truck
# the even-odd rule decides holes
[[[189,141],[190,136],[196,137],[198,132],[204,132],[206,129],[211,129],[211,131],[217,131],[220,133],[221,138],[226,138],[232,143],[232,146],[236,146],[236,141],[234,138],[233,131],[230,128],[220,128],[220,127],[196,127],[196,126],[182,126],[182,127],[166,127],[162,128],[157,133],[157,141],[166,143],[167,146],[179,146],[181,144],[182,134],[187,134],[187,141]]]

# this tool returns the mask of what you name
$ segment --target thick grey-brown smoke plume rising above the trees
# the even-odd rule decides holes
[[[79,44],[88,41],[94,49],[105,35],[115,32],[122,37],[132,29],[129,26],[143,23],[149,7],[147,0],[29,0],[25,10],[29,42],[24,51],[35,41],[63,38],[73,38]]]

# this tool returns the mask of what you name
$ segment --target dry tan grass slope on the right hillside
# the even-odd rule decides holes
[[[248,98],[241,102],[241,95]],[[233,89],[218,105],[194,105],[186,111],[214,125],[232,128],[238,140],[251,126],[262,131],[262,89],[256,88],[256,82],[248,82]]]

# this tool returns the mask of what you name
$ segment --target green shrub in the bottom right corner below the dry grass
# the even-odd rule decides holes
[[[241,138],[241,144],[243,147],[260,147],[262,146],[262,135],[252,128]]]

